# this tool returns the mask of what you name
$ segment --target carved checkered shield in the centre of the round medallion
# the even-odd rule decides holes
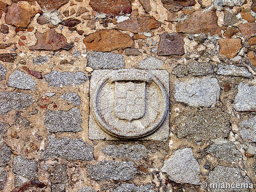
[[[119,119],[140,119],[146,112],[146,82],[115,82],[115,114]]]

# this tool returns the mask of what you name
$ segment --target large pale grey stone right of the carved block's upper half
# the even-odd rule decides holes
[[[211,107],[219,100],[220,85],[216,78],[190,78],[175,81],[174,98],[191,107]]]

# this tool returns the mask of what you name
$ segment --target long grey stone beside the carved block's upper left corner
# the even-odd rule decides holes
[[[86,75],[81,71],[71,73],[53,70],[51,73],[44,75],[44,78],[50,87],[77,86],[87,81]]]

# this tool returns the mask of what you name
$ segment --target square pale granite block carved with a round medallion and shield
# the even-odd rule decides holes
[[[95,70],[90,81],[89,139],[169,138],[165,70]]]

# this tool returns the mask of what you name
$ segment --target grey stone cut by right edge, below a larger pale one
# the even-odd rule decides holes
[[[238,126],[238,130],[245,142],[256,142],[256,116],[243,121]]]

